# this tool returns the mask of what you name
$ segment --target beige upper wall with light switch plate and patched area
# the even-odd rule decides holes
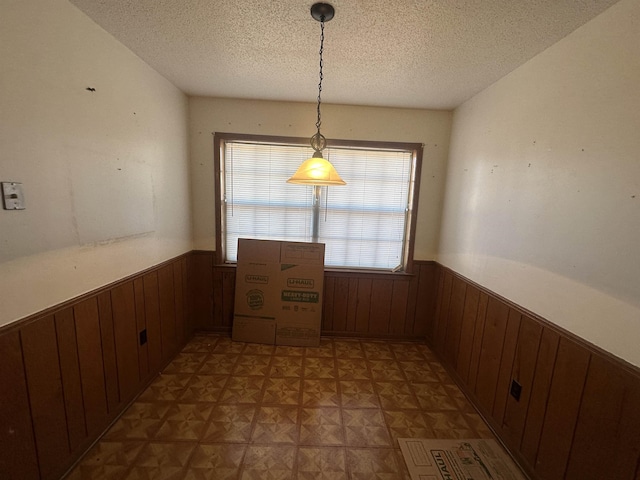
[[[65,0],[3,1],[0,58],[0,325],[191,250],[186,96]]]

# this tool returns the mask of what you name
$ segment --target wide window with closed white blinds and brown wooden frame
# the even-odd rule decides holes
[[[314,187],[286,180],[313,154],[304,138],[216,133],[219,262],[238,238],[311,241]],[[408,271],[422,145],[327,140],[346,186],[321,187],[318,241],[333,268]]]

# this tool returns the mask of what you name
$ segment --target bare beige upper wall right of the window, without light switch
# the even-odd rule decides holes
[[[640,3],[454,114],[439,260],[640,365]]]

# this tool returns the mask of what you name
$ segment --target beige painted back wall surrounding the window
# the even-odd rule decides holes
[[[189,99],[189,112],[194,246],[215,250],[212,134],[307,138],[315,133],[316,107],[193,97]],[[322,134],[327,138],[425,144],[415,247],[419,260],[433,259],[436,252],[450,128],[450,112],[322,105]]]

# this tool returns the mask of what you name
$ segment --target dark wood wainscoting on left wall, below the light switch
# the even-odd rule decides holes
[[[0,478],[60,478],[182,348],[187,258],[0,330]]]

